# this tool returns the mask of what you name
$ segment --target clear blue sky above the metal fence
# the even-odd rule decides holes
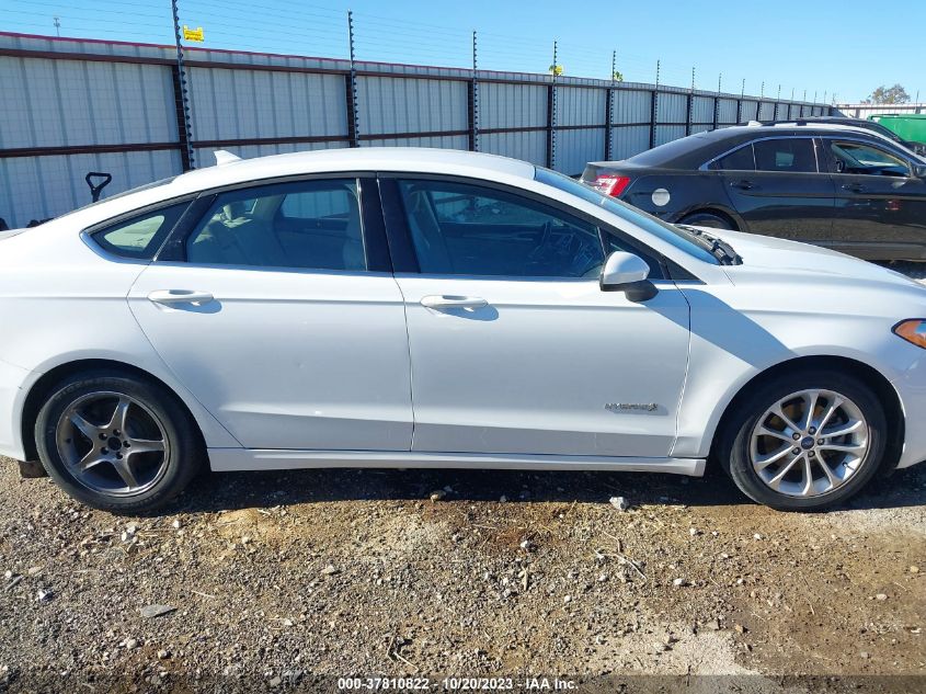
[[[926,101],[926,0],[179,0],[208,48],[607,79],[839,103],[901,83]],[[54,25],[58,18],[59,29]],[[0,0],[0,30],[172,43],[170,0]],[[745,88],[743,87],[745,80]]]

